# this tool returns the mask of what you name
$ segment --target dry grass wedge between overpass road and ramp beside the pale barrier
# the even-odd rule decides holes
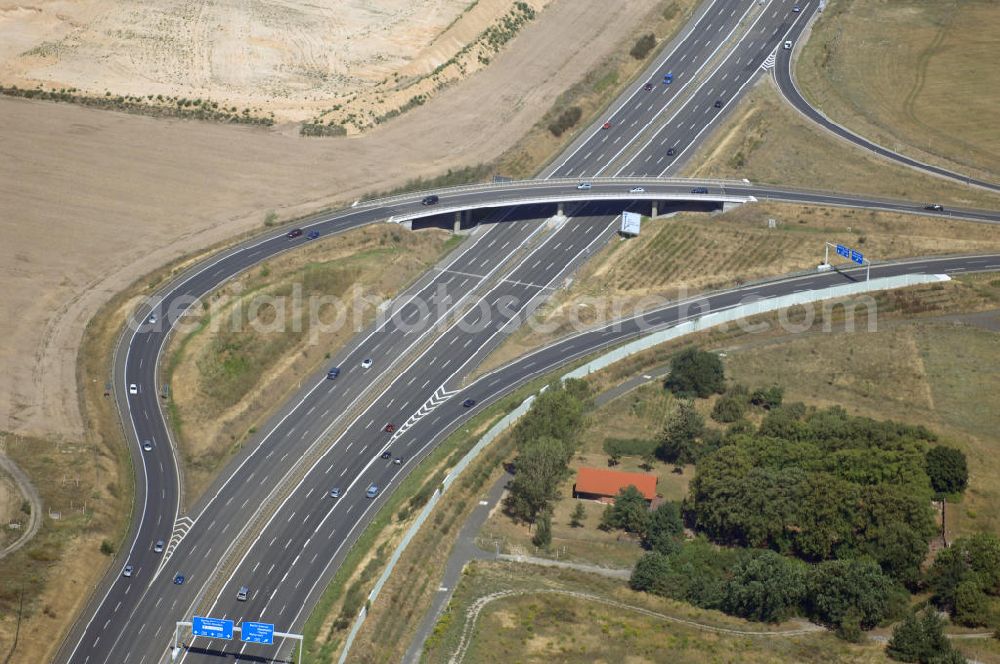
[[[768,219],[777,227],[768,228]],[[987,224],[842,208],[755,203],[724,214],[646,220],[642,234],[596,254],[572,285],[539,307],[477,369],[485,373],[527,351],[600,321],[694,293],[813,268],[824,242],[861,248],[872,260],[1000,249]]]

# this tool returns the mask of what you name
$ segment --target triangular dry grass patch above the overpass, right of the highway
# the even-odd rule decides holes
[[[833,136],[786,104],[770,77],[754,84],[683,174],[1000,208],[996,194],[918,173]]]

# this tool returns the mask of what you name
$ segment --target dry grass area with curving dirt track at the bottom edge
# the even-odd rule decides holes
[[[565,593],[583,593],[573,596]],[[607,604],[605,602],[610,602]],[[478,611],[477,611],[478,609]],[[428,641],[427,662],[448,662],[467,622],[467,662],[861,662],[889,661],[879,644],[853,645],[826,632],[742,636],[712,631],[779,632],[799,623],[759,625],[623,583],[566,570],[477,562],[467,568]],[[685,622],[689,621],[689,622]]]

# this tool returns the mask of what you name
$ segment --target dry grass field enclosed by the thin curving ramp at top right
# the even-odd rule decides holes
[[[992,0],[833,0],[796,76],[811,102],[863,136],[997,182],[998,52]]]

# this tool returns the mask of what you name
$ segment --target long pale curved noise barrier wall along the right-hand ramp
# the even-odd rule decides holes
[[[832,300],[851,295],[858,295],[860,293],[905,288],[907,286],[917,286],[920,284],[937,283],[941,281],[950,281],[950,277],[943,274],[904,274],[895,277],[881,277],[853,284],[830,286],[828,288],[803,291],[801,293],[792,293],[790,295],[782,295],[748,304],[736,305],[723,311],[707,313],[692,320],[675,324],[665,330],[653,332],[652,334],[637,339],[636,341],[609,351],[604,355],[577,367],[569,373],[563,374],[561,380],[567,380],[569,378],[584,378],[595,371],[600,371],[615,362],[619,362],[630,355],[635,355],[636,353],[648,350],[653,346],[657,346],[667,341],[672,341],[679,337],[699,332],[710,327],[715,327],[723,323],[729,323],[735,320],[747,318],[749,316],[757,316],[762,313],[777,311],[779,309],[795,305]],[[545,388],[542,388],[543,391],[544,389]],[[540,393],[541,392],[539,392],[539,394]],[[389,576],[392,574],[393,569],[395,569],[396,563],[399,562],[400,557],[406,551],[406,548],[410,545],[410,542],[416,536],[424,522],[427,521],[427,517],[430,516],[434,507],[437,505],[438,501],[440,501],[441,496],[444,495],[444,492],[448,489],[448,487],[451,486],[455,479],[462,474],[469,464],[472,463],[490,443],[496,440],[500,434],[516,424],[517,421],[528,412],[528,409],[531,408],[531,404],[534,402],[536,396],[537,395],[529,396],[527,399],[522,401],[517,408],[512,410],[503,419],[490,427],[489,431],[483,434],[482,438],[476,442],[475,446],[473,446],[473,448],[469,450],[457,464],[455,464],[455,467],[451,469],[448,475],[445,476],[444,481],[441,482],[441,486],[434,491],[434,495],[427,501],[424,508],[420,510],[420,514],[417,515],[416,520],[414,520],[410,527],[406,529],[403,539],[389,557],[389,562],[386,565],[385,570],[382,572],[381,576],[379,576],[378,581],[375,582],[374,588],[372,588],[371,592],[368,593],[368,605],[374,603],[374,601],[378,598],[382,588],[389,580]],[[347,640],[344,642],[344,649],[340,653],[338,664],[344,664],[344,662],[347,661],[347,656],[351,650],[351,646],[354,644],[354,640],[357,637],[358,632],[361,630],[361,626],[368,617],[368,605],[362,607],[358,612],[358,616],[354,620],[354,625],[351,626],[351,631],[348,633]]]

